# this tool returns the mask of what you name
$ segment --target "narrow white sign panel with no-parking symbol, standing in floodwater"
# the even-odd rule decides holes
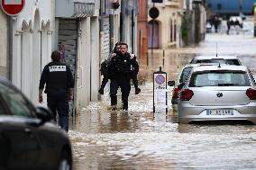
[[[153,112],[167,112],[167,73],[153,73]]]

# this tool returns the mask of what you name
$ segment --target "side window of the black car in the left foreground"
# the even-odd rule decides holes
[[[6,107],[12,115],[34,117],[35,112],[32,104],[17,90],[10,86],[0,84],[0,94],[3,96]]]

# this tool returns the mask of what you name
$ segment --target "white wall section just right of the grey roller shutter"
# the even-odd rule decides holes
[[[99,5],[96,2],[95,14],[80,18],[78,34],[78,70],[76,108],[85,108],[90,101],[98,100],[100,85],[100,43]]]

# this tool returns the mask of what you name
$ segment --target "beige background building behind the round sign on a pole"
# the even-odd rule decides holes
[[[153,49],[170,49],[179,47],[179,28],[181,24],[180,1],[163,0],[162,3],[149,2],[149,10],[157,7],[159,16],[148,18],[148,47]]]

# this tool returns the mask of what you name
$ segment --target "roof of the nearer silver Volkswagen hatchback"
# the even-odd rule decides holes
[[[219,67],[220,66],[220,67]],[[231,71],[247,71],[246,66],[219,65],[219,66],[200,66],[193,67],[193,72],[209,71],[209,70],[231,70]]]

